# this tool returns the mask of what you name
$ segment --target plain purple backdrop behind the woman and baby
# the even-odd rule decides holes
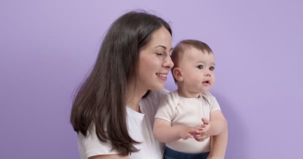
[[[226,159],[301,158],[301,0],[1,0],[0,159],[79,159],[72,95],[109,25],[138,8],[170,21],[173,45],[213,49]]]

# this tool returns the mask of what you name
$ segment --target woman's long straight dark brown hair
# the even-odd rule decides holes
[[[73,101],[70,121],[77,133],[86,136],[95,126],[99,140],[110,141],[122,155],[139,151],[134,147],[139,142],[128,133],[126,88],[134,76],[139,49],[161,26],[171,34],[167,22],[145,11],[128,12],[112,23],[96,63]]]

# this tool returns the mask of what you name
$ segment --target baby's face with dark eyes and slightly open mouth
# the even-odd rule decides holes
[[[203,53],[193,47],[188,48],[179,62],[184,88],[201,93],[208,91],[215,83],[214,54]]]

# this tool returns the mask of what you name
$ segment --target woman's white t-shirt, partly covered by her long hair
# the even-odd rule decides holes
[[[140,151],[132,153],[130,159],[162,159],[163,144],[155,140],[152,134],[154,115],[157,111],[160,98],[168,91],[151,91],[150,94],[140,101],[139,113],[127,107],[127,121],[130,136],[141,144],[135,145]],[[101,142],[96,131],[93,128],[92,133],[87,133],[84,137],[82,133],[78,133],[78,148],[81,159],[88,159],[97,155],[119,154],[116,150],[111,151],[110,142]]]

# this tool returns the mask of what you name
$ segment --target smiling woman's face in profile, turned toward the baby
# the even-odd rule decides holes
[[[161,90],[173,66],[171,35],[165,27],[152,33],[151,40],[139,51],[136,85],[142,90]]]

